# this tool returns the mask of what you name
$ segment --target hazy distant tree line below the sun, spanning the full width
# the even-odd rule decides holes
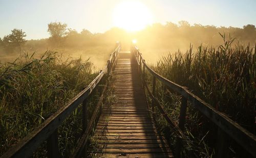
[[[202,26],[200,24],[190,25],[187,21],[179,21],[178,24],[166,22],[166,24],[153,24],[145,29],[129,33],[120,28],[112,28],[104,33],[91,33],[83,29],[77,32],[68,28],[67,24],[61,22],[51,22],[48,24],[50,37],[39,40],[25,40],[26,33],[23,30],[13,29],[11,34],[0,38],[0,51],[11,53],[20,52],[22,48],[35,50],[37,48],[83,48],[99,45],[113,44],[119,40],[130,44],[133,38],[139,41],[140,47],[162,47],[170,46],[182,48],[192,43],[196,46],[200,44],[218,45],[222,43],[219,33],[230,34],[242,43],[256,43],[256,28],[254,25],[245,25],[243,28]]]

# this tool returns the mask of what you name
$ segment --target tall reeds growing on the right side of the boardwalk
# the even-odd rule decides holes
[[[224,44],[217,48],[200,46],[194,52],[190,46],[185,53],[178,51],[162,57],[153,69],[167,79],[188,87],[194,94],[255,134],[255,47],[245,47],[239,42],[234,44],[230,36],[228,39],[225,34],[221,36]],[[147,80],[152,82],[148,75]],[[180,96],[168,91],[159,82],[156,92],[169,116],[178,122]],[[166,136],[174,134],[170,141],[175,144],[179,136],[168,128],[158,111],[156,114],[159,115],[156,118],[161,130],[167,131]],[[187,139],[183,142],[184,156],[209,157],[215,153],[216,127],[191,105],[188,105],[185,130]],[[231,155],[243,155],[244,152],[239,148],[237,145],[230,147]]]

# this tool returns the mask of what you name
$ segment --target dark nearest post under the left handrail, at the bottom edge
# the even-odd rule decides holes
[[[48,157],[59,157],[58,129],[47,140]]]

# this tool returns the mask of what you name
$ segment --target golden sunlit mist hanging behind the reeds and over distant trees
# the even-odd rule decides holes
[[[24,53],[33,53],[39,56],[46,50],[56,51],[62,54],[63,59],[79,58],[89,59],[94,63],[95,70],[102,69],[108,60],[110,53],[115,48],[115,42],[120,41],[123,50],[129,50],[131,41],[137,40],[136,45],[141,50],[143,57],[150,63],[156,63],[162,56],[175,53],[178,50],[185,52],[190,44],[194,50],[197,47],[216,47],[223,43],[220,34],[227,38],[236,38],[234,43],[250,43],[254,47],[256,42],[256,30],[254,25],[245,25],[243,28],[190,25],[187,21],[179,21],[178,24],[166,22],[166,24],[153,24],[141,31],[127,32],[120,28],[112,28],[104,33],[91,33],[83,29],[77,32],[66,27],[59,41],[49,37],[39,40],[27,40],[21,51],[8,51],[3,42],[0,44],[0,61],[12,61]],[[2,40],[1,40],[2,41]]]

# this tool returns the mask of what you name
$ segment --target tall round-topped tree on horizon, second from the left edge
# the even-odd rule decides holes
[[[60,44],[62,37],[66,35],[67,24],[61,24],[60,22],[51,22],[48,24],[48,32],[51,35],[49,38],[55,44]]]

